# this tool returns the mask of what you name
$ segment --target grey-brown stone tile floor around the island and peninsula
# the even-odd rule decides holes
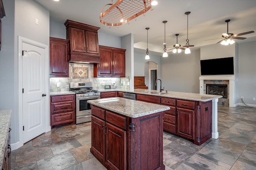
[[[18,170],[106,170],[90,153],[90,122],[52,129],[11,153]],[[256,170],[256,108],[218,106],[218,139],[201,146],[164,132],[166,170]]]

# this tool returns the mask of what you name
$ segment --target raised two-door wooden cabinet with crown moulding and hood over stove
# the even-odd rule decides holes
[[[66,20],[67,39],[70,39],[70,62],[100,63],[98,29],[92,25]]]

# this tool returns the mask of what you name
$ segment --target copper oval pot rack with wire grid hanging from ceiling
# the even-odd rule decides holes
[[[107,5],[111,6],[103,12]],[[108,26],[119,26],[150,10],[151,0],[118,0],[114,4],[112,0],[112,4],[105,6],[100,13],[100,22]]]

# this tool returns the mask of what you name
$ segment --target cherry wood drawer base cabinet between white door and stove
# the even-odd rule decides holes
[[[75,95],[50,96],[51,128],[76,123]]]

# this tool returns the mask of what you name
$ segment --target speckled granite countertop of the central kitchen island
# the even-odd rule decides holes
[[[88,100],[87,102],[94,106],[99,106],[132,118],[150,115],[170,109],[168,106],[150,104],[124,98],[104,98]]]

